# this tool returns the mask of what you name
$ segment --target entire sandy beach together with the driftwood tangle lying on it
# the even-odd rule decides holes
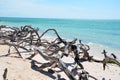
[[[57,39],[45,33],[38,36],[31,26],[19,29],[19,35],[14,30],[17,31],[16,28],[1,27],[0,80],[4,80],[4,77],[5,80],[78,80],[80,75],[94,77],[88,77],[89,80],[120,79],[119,61],[119,66],[117,63],[108,63],[120,59],[119,51],[77,39],[63,40],[55,29],[48,30],[53,30]],[[21,36],[23,33],[26,35]],[[111,56],[111,53],[117,57]],[[106,68],[103,67],[104,64]]]

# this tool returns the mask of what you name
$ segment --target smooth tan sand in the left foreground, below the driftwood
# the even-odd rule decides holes
[[[0,45],[0,55],[6,54],[8,46]],[[8,69],[8,80],[52,80],[52,78],[31,69],[30,61],[21,58],[0,57],[0,80],[4,69]]]

